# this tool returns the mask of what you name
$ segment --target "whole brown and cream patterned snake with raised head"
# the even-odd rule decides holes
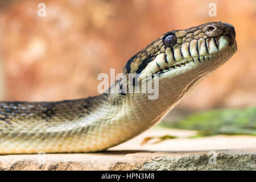
[[[117,146],[158,124],[236,52],[232,24],[204,23],[169,31],[148,44],[123,67],[123,75],[136,76],[117,79],[109,92],[58,102],[0,102],[0,154],[98,152]],[[133,92],[146,87],[133,81],[157,82],[158,97]]]

